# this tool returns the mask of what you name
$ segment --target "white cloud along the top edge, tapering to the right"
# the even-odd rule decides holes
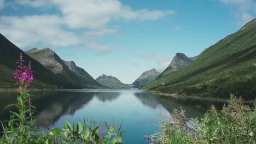
[[[31,7],[55,5],[63,14],[63,21],[71,28],[101,29],[115,20],[158,20],[175,13],[174,10],[132,10],[117,0],[77,0],[75,2],[70,0],[17,0],[16,2]]]

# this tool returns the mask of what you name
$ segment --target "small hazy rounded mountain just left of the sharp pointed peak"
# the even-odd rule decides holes
[[[136,79],[132,85],[134,85],[134,88],[139,88],[143,85],[146,85],[156,79],[160,73],[156,69],[150,69],[148,71],[145,71],[141,74],[141,76]]]

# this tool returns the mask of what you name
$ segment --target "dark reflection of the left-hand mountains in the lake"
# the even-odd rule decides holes
[[[4,109],[11,103],[16,103],[15,92],[1,92],[0,118],[9,119],[9,111]],[[53,125],[62,115],[73,115],[79,109],[85,107],[90,100],[96,97],[105,103],[117,99],[120,93],[104,92],[68,92],[68,91],[40,91],[31,92],[33,105],[36,106],[38,124],[42,127]],[[33,96],[34,95],[34,96]],[[46,123],[47,122],[47,125]]]

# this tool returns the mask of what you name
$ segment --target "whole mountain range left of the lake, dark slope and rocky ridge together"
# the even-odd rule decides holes
[[[48,49],[27,51],[28,55],[0,34],[0,87],[14,88],[13,78],[16,62],[20,53],[25,62],[31,61],[34,82],[31,88],[98,88],[104,87],[96,82],[82,68],[69,69],[72,64],[65,64],[54,51]],[[67,62],[68,63],[68,62]],[[72,63],[72,62],[71,62]],[[74,66],[74,65],[73,65]],[[80,72],[79,72],[79,70]]]

